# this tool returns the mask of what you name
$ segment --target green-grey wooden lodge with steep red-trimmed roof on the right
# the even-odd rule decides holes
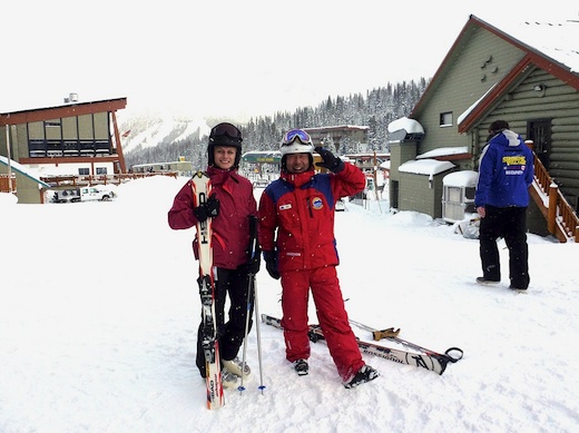
[[[389,126],[390,203],[445,217],[445,176],[475,174],[489,125],[502,119],[536,154],[529,229],[573,240],[579,225],[579,21],[518,23],[517,17],[508,18],[510,27],[499,29],[470,16],[409,116],[419,127]]]

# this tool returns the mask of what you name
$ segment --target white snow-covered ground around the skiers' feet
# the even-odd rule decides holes
[[[336,214],[351,318],[464,358],[440,376],[365,355],[381,376],[345,390],[324,343],[297,377],[281,331],[262,324],[265,391],[254,327],[246,391],[208,411],[194,362],[195,230],[167,225],[185,181],[134,180],[111,203],[0,195],[0,432],[579,431],[579,247],[530,235],[528,293],[507,288],[506,249],[502,286],[481,287],[477,240],[425,215],[386,214],[385,201]],[[257,291],[259,312],[279,317],[265,266]]]

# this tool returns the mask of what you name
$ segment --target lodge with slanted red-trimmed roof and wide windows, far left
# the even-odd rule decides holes
[[[116,118],[126,105],[126,98],[71,98],[60,106],[0,112],[0,156],[43,178],[126,174]]]

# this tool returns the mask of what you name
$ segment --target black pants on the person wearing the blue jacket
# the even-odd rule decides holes
[[[511,286],[529,286],[529,248],[527,245],[527,207],[485,206],[480,225],[480,256],[484,279],[501,281],[497,240],[502,237],[509,248]]]

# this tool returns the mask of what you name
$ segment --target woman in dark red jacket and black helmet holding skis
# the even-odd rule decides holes
[[[253,186],[237,174],[242,157],[242,132],[230,124],[219,124],[212,129],[207,147],[207,174],[212,181],[212,195],[207,201],[194,207],[192,181],[179,190],[168,214],[173,229],[194,227],[197,222],[212,217],[213,266],[215,269],[215,316],[217,341],[223,365],[222,381],[225,387],[235,387],[242,375],[242,362],[237,357],[245,336],[246,315],[252,327],[253,308],[247,308],[249,274],[259,270],[259,252],[249,258],[249,216],[257,215]],[[197,237],[193,242],[198,258]],[[225,322],[225,302],[229,296],[230,308]],[[253,306],[253,298],[249,299]],[[203,323],[197,335],[197,367],[206,377],[203,351]],[[251,372],[245,364],[244,374]]]

